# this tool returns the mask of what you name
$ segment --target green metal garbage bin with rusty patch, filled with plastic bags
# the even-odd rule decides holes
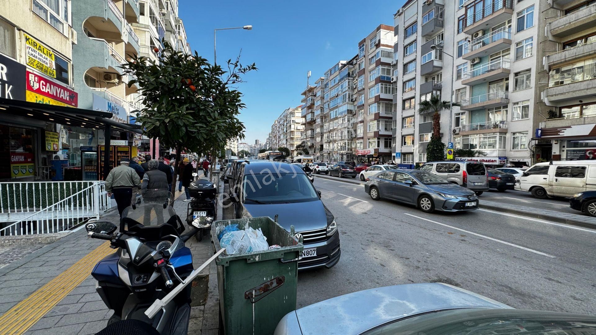
[[[298,259],[303,245],[271,218],[213,222],[215,252],[222,249],[218,234],[228,225],[261,228],[269,246],[281,249],[237,253],[216,258],[219,306],[224,334],[272,334],[285,314],[296,309]]]

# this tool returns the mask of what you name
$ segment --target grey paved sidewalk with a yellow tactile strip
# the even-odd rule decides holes
[[[187,213],[184,198],[184,192],[176,192],[173,206],[183,222]],[[110,210],[102,220],[117,222],[117,210]],[[86,237],[85,228],[80,227],[0,268],[0,334],[18,328],[17,334],[85,335],[104,328],[113,311],[105,307],[95,292],[96,281],[90,275],[98,259],[114,252],[104,244],[105,241]],[[195,268],[213,255],[209,237],[201,242],[191,238],[185,244],[193,253]],[[217,334],[219,293],[215,263],[201,271],[191,285],[193,302],[188,333]],[[8,325],[7,329],[2,330],[3,325]]]

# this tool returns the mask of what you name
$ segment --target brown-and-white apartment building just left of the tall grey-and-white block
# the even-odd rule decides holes
[[[380,24],[358,42],[356,64],[356,161],[393,157],[394,28]]]

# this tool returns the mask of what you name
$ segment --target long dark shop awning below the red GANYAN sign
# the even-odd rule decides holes
[[[110,118],[113,114],[107,111],[0,98],[0,113],[89,129],[105,129],[106,125],[110,125],[111,130],[142,134],[142,129],[139,125],[130,125],[111,120]]]

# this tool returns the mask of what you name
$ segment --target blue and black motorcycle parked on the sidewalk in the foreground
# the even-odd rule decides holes
[[[95,265],[91,275],[105,306],[114,310],[107,325],[120,320],[139,320],[159,334],[187,334],[191,285],[187,285],[153,318],[145,311],[163,299],[175,284],[185,283],[193,272],[193,256],[184,243],[186,234],[166,190],[142,190],[139,200],[122,213],[120,231],[112,222],[86,224],[88,237],[110,241],[116,249]]]

